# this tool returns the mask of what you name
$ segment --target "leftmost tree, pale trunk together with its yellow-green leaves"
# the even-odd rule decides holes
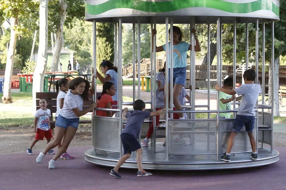
[[[6,18],[10,18],[10,43],[5,68],[5,81],[2,97],[3,103],[12,103],[11,80],[17,37],[18,35],[21,36],[27,32],[27,29],[19,24],[19,21],[28,20],[32,17],[36,3],[37,1],[29,0],[0,0],[0,11],[6,13]]]

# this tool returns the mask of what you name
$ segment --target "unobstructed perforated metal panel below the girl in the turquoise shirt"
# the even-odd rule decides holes
[[[169,154],[215,154],[216,120],[169,120]]]

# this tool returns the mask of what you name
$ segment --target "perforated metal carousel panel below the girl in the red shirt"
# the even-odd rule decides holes
[[[119,118],[94,116],[94,148],[119,152]]]

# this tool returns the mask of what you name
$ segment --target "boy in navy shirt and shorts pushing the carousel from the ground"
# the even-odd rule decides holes
[[[121,133],[121,141],[123,145],[124,155],[118,160],[116,166],[110,171],[110,175],[116,178],[122,178],[118,173],[118,169],[124,162],[130,158],[131,152],[137,152],[137,165],[138,171],[137,176],[147,176],[152,175],[152,173],[143,170],[142,168],[142,153],[143,150],[141,148],[140,143],[137,138],[140,133],[140,129],[142,123],[145,118],[149,118],[150,116],[157,116],[162,114],[166,109],[160,109],[156,112],[145,111],[145,103],[138,99],[133,103],[134,111],[128,112],[128,108],[124,108],[123,116],[127,118],[127,123],[124,130]]]

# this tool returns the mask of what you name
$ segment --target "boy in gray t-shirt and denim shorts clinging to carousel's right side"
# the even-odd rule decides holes
[[[241,85],[237,89],[223,89],[218,84],[215,86],[216,90],[222,91],[229,95],[242,95],[241,104],[239,106],[235,121],[233,122],[233,128],[231,129],[231,135],[227,145],[227,152],[221,156],[221,160],[225,162],[231,161],[230,153],[235,142],[235,137],[243,126],[245,126],[245,131],[247,132],[251,143],[251,158],[252,160],[257,160],[257,152],[255,146],[256,142],[253,134],[253,129],[255,123],[255,104],[257,102],[258,95],[261,93],[261,86],[260,83],[254,83],[256,73],[253,69],[246,70],[243,73],[243,78],[245,84]]]

